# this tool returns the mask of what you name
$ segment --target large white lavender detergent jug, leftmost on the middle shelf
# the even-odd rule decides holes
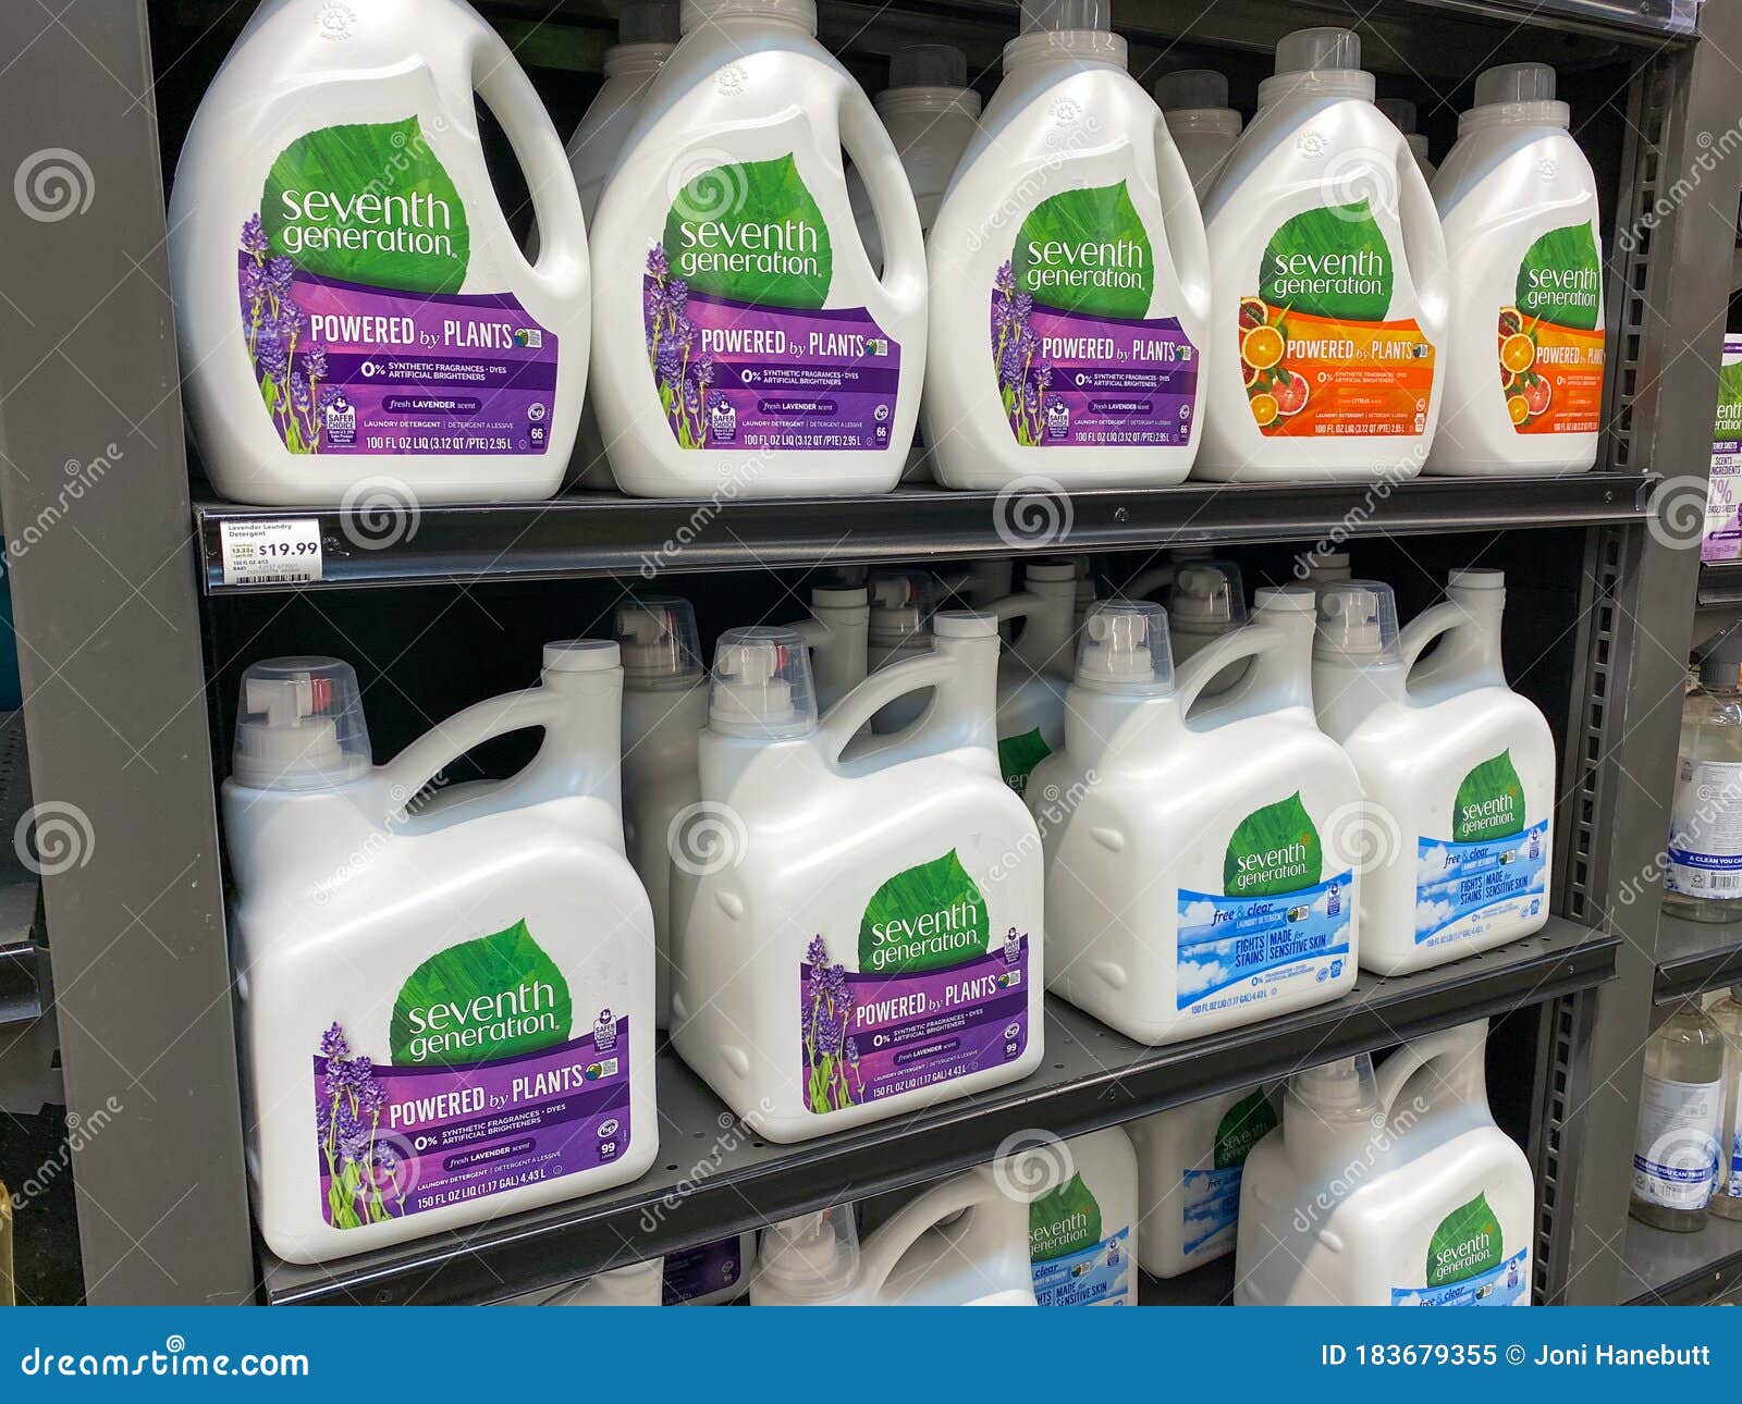
[[[348,664],[242,676],[223,813],[247,1164],[280,1258],[444,1233],[653,1164],[653,916],[624,855],[622,690],[615,643],[547,645],[537,688],[373,766]],[[526,728],[544,744],[514,779],[418,812],[448,765]]]

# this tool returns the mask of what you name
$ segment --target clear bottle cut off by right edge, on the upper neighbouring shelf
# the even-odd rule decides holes
[[[1681,704],[1664,911],[1742,918],[1742,629],[1707,648]]]

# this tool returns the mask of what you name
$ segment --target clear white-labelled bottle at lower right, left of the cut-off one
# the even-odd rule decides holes
[[[1723,1073],[1723,1033],[1695,1000],[1685,1000],[1644,1045],[1627,1204],[1641,1223],[1671,1233],[1705,1226],[1718,1172]]]

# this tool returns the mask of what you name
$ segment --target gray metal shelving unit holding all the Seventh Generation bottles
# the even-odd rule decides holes
[[[1545,937],[1432,975],[1364,982],[1312,1017],[1174,1050],[1122,1045],[1057,1010],[1057,1056],[1031,1082],[911,1127],[805,1148],[739,1144],[718,1190],[681,1195],[678,1212],[627,1242],[629,1216],[653,1197],[664,1202],[690,1151],[671,1153],[676,1171],[613,1197],[331,1272],[270,1261],[249,1223],[209,718],[226,660],[213,655],[206,624],[240,594],[213,568],[216,533],[239,514],[267,514],[192,503],[167,294],[159,115],[169,129],[167,113],[185,120],[214,54],[153,59],[153,21],[218,26],[221,52],[239,9],[115,0],[49,23],[30,5],[0,7],[0,124],[12,150],[30,153],[19,172],[54,165],[70,192],[47,207],[23,199],[0,207],[12,267],[30,270],[0,300],[0,507],[14,542],[28,538],[9,566],[35,794],[89,819],[85,850],[44,876],[44,897],[68,1106],[75,1115],[111,1099],[122,1106],[101,1136],[80,1137],[73,1158],[92,1301],[507,1296],[618,1261],[632,1244],[676,1247],[843,1188],[911,1185],[986,1158],[1005,1131],[1036,1118],[1085,1129],[1502,1010],[1536,1019],[1538,1063],[1517,1070],[1510,1090],[1528,1103],[1540,1185],[1538,1293],[1639,1294],[1624,1272],[1627,1164],[1615,1148],[1632,1136],[1660,932],[1655,897],[1631,883],[1665,833],[1698,577],[1697,552],[1665,530],[1650,484],[1705,470],[1742,192],[1742,157],[1718,141],[1735,124],[1726,54],[1742,54],[1739,7],[1705,5],[1695,35],[1688,0],[1221,0],[1202,14],[1160,0],[1115,5],[1139,71],[1209,52],[1254,63],[1289,28],[1355,19],[1376,66],[1448,92],[1507,57],[1617,75],[1603,96],[1618,94],[1624,111],[1599,164],[1611,186],[1604,214],[1629,237],[1611,240],[1608,432],[1596,474],[1408,484],[1361,514],[1359,495],[1341,489],[1085,493],[1070,500],[1080,537],[1052,542],[1115,550],[1521,526],[1573,542],[1578,578],[1561,587],[1577,608],[1557,655],[1568,674],[1556,718],[1559,920]],[[484,9],[530,63],[598,63],[606,24],[598,0],[484,0]],[[944,9],[822,0],[822,12],[826,42],[850,45],[855,63],[937,38],[963,44],[976,70],[995,63],[1014,19],[1007,0]],[[610,575],[664,540],[685,510],[613,498],[444,509],[425,512],[415,538],[366,554],[347,550],[352,533],[338,514],[314,516],[331,542],[322,589],[348,591]],[[742,570],[761,552],[812,564],[843,531],[861,561],[1012,550],[989,535],[988,503],[974,495],[739,503],[730,526],[686,570]],[[718,1110],[681,1070],[667,1071],[662,1094],[671,1146],[679,1131],[697,1146],[719,1132]],[[1223,1289],[1202,1293],[1219,1299]]]

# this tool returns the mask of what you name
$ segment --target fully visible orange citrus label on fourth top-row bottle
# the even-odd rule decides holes
[[[1421,434],[1434,343],[1413,319],[1341,321],[1240,298],[1240,371],[1266,437]]]

